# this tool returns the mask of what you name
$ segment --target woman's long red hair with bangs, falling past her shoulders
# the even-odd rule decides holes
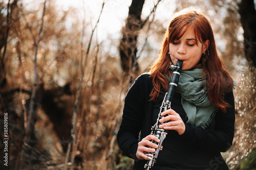
[[[196,38],[202,44],[209,40],[209,58],[206,61],[202,60],[202,58],[200,60],[203,70],[202,78],[207,80],[204,87],[211,104],[226,112],[226,107],[229,105],[223,99],[223,94],[225,90],[232,90],[233,80],[217,53],[214,33],[208,19],[201,12],[197,12],[193,8],[186,8],[175,13],[172,21],[169,23],[169,27],[166,29],[160,54],[150,70],[150,77],[154,86],[151,100],[155,101],[157,99],[162,90],[161,88],[164,88],[165,91],[168,90],[169,85],[165,75],[172,75],[169,71],[169,64],[172,62],[168,54],[169,43],[180,39],[189,28],[194,29]]]

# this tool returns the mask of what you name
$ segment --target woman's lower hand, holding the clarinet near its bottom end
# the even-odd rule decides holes
[[[147,135],[138,143],[138,149],[136,152],[136,157],[140,160],[147,159],[145,155],[148,152],[155,152],[154,148],[158,148],[158,145],[151,142],[151,140],[155,140],[156,142],[160,142],[160,140],[155,135]],[[150,148],[152,147],[152,148]]]

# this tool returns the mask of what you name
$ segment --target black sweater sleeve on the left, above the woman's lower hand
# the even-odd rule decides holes
[[[122,122],[117,133],[117,142],[126,156],[137,159],[139,133],[144,119],[146,76],[138,77],[124,100]]]

